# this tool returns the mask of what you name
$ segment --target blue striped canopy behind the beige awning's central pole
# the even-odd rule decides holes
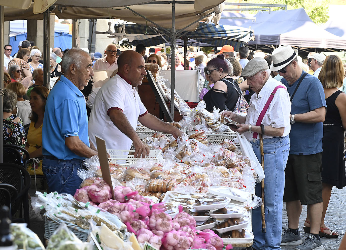
[[[158,35],[162,30],[160,28],[151,28],[146,25],[128,24],[126,25],[126,33],[130,34],[143,34],[136,36],[132,45],[139,43],[145,46],[155,46],[158,44],[166,43],[170,40],[169,37]],[[215,24],[199,23],[198,28],[193,32],[185,32],[176,37],[176,39],[188,38],[188,43],[194,43],[193,46],[217,46],[222,47],[226,44],[232,45],[237,48],[247,43],[252,35],[248,28],[220,25],[215,27]],[[203,43],[199,44],[199,43]],[[191,44],[192,45],[192,44]]]

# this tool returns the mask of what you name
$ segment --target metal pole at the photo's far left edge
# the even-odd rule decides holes
[[[3,48],[3,26],[4,26],[4,10],[3,6],[0,6],[0,48]],[[3,110],[3,53],[0,53],[0,109]],[[3,127],[3,113],[0,119],[0,126]],[[1,124],[2,123],[2,124]],[[0,140],[0,163],[3,160],[3,140]]]

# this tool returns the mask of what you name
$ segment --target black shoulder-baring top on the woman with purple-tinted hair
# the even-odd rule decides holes
[[[226,84],[227,93],[218,89],[215,90],[221,92],[216,92],[213,91],[214,88],[212,88],[203,97],[203,101],[205,101],[207,105],[206,109],[209,112],[213,111],[213,107],[219,108],[220,111],[225,110],[225,106],[228,110],[233,111],[237,104],[239,93],[242,93],[242,90],[240,90],[238,84],[235,83],[232,78],[221,79],[220,81]]]

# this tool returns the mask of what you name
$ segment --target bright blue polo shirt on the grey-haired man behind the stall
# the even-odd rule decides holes
[[[62,75],[46,101],[42,126],[43,155],[52,155],[61,160],[84,160],[85,157],[76,155],[65,145],[65,138],[69,136],[79,136],[82,142],[90,146],[85,97]]]

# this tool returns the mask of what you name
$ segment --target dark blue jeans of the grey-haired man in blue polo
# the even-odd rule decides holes
[[[82,166],[82,160],[79,159],[59,160],[52,156],[44,156],[42,171],[47,178],[49,192],[74,195],[82,183],[82,179],[77,175],[78,169]]]

